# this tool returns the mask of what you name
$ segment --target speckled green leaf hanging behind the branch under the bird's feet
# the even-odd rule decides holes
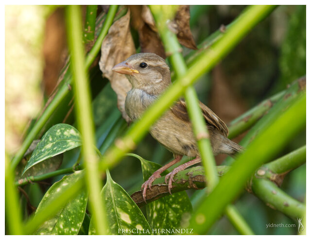
[[[147,161],[136,154],[128,155],[140,160],[144,181],[161,168],[161,165]],[[169,171],[164,172],[164,174],[167,173]],[[186,191],[176,192],[146,205],[147,220],[156,229],[178,229],[182,221],[190,217],[191,211],[192,206]],[[161,233],[157,231],[157,234]]]

